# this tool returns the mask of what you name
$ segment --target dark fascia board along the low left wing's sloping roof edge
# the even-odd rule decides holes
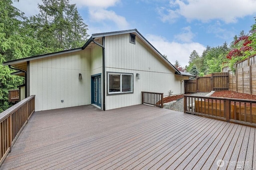
[[[46,58],[46,57],[52,57],[52,56],[56,56],[56,55],[62,55],[62,54],[66,54],[66,53],[81,51],[81,50],[82,50],[82,48],[78,48],[78,49],[60,51],[60,52],[56,52],[56,53],[49,53],[49,54],[46,54],[46,55],[38,55],[38,56],[27,57],[27,58],[24,58],[24,59],[6,61],[6,62],[3,63],[3,65],[6,66],[6,65],[11,65],[11,64],[17,64],[17,63],[36,60],[36,59],[43,59],[43,58]]]

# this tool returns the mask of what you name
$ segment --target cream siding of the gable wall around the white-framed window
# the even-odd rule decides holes
[[[160,92],[164,96],[169,96],[170,90],[173,94],[184,93],[181,80],[187,78],[175,75],[175,71],[138,36],[136,44],[130,43],[130,34],[108,36],[105,47],[106,72],[133,73],[133,94],[107,95],[106,109],[141,104],[142,91]]]

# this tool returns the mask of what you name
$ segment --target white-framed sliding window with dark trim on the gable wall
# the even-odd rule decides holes
[[[133,74],[108,72],[108,94],[133,92]]]

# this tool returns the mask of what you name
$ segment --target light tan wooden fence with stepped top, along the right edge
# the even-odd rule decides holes
[[[236,64],[236,73],[229,71],[228,90],[256,95],[256,56]]]

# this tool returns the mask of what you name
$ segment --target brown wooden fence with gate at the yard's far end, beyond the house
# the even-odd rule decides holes
[[[185,94],[228,90],[228,73],[217,72],[194,80],[185,80]]]

